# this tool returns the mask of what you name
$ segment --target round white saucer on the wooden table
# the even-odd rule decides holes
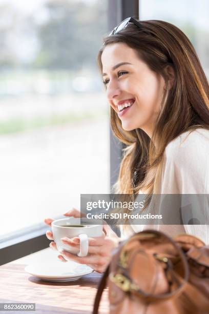
[[[48,262],[35,263],[25,267],[25,271],[46,281],[74,281],[94,270],[73,261],[66,263]]]

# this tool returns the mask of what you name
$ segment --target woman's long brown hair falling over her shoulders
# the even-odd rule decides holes
[[[142,30],[129,23],[118,34],[106,37],[98,53],[102,71],[101,54],[105,47],[125,43],[165,81],[165,93],[152,139],[141,129],[123,130],[117,113],[111,108],[112,130],[126,144],[115,193],[132,195],[140,189],[149,194],[156,193],[163,153],[172,140],[185,131],[209,129],[208,82],[193,45],[180,29],[168,22],[139,22]],[[168,87],[168,77],[164,73],[167,65],[171,65],[175,73],[172,88]]]

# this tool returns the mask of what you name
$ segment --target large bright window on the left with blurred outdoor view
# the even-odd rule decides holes
[[[0,0],[0,240],[109,192],[107,5]]]

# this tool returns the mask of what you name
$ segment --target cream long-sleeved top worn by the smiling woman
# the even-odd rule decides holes
[[[140,191],[137,201],[140,201]],[[196,129],[192,132],[185,132],[169,143],[165,149],[161,182],[158,194],[195,194],[196,202],[192,201],[192,212],[201,212],[205,218],[204,225],[137,225],[137,220],[130,220],[130,226],[126,228],[123,236],[130,235],[148,228],[155,228],[167,232],[171,236],[179,233],[190,233],[209,244],[209,131]],[[199,194],[207,194],[203,198]],[[198,197],[199,195],[199,197]],[[164,195],[162,195],[164,197]],[[190,196],[189,196],[190,197]],[[184,200],[182,195],[180,208],[186,206],[188,199]],[[199,200],[199,201],[198,201]],[[183,204],[185,202],[185,204]],[[166,206],[165,206],[166,204]],[[191,204],[190,204],[191,205]],[[144,213],[162,214],[164,217],[175,215],[177,206],[160,202],[160,205]]]

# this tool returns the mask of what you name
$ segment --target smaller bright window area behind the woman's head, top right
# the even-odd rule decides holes
[[[140,19],[162,19],[179,27],[194,45],[209,76],[209,2],[207,0],[140,0]]]

